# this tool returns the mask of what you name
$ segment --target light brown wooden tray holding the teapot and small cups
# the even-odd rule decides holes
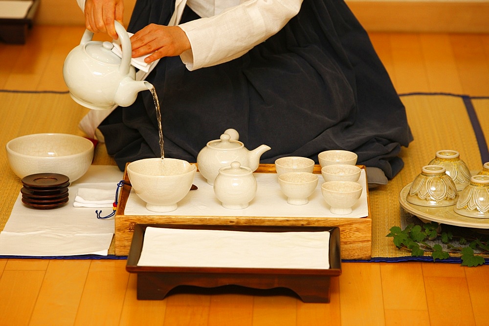
[[[359,165],[365,169],[365,166]],[[319,165],[314,166],[314,173],[321,173]],[[260,164],[255,173],[276,173],[274,164]],[[124,181],[129,182],[127,169]],[[270,226],[337,226],[341,233],[342,259],[370,259],[372,256],[372,220],[367,189],[368,216],[364,218],[345,217],[270,217],[270,216],[136,216],[124,215],[130,185],[124,185],[119,195],[115,212],[115,254],[127,256],[136,224],[197,224],[197,225],[270,225]],[[171,212],[170,212],[171,214]]]

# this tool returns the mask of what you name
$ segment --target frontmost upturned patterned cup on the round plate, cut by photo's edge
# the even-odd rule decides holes
[[[489,218],[489,175],[473,176],[453,210],[467,217]]]

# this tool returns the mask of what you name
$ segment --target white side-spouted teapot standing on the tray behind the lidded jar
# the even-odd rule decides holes
[[[233,135],[233,139],[230,134]],[[241,166],[249,167],[252,172],[255,171],[260,164],[262,154],[271,149],[267,145],[261,145],[250,151],[242,142],[235,139],[237,137],[239,134],[236,130],[228,129],[220,139],[208,142],[197,155],[199,172],[210,185],[214,184],[219,169],[230,166],[232,162],[239,162]]]

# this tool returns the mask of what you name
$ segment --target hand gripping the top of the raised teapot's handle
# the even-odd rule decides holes
[[[122,24],[123,17],[123,0],[86,0],[85,2],[85,26],[93,33],[104,32],[117,40],[114,20]]]

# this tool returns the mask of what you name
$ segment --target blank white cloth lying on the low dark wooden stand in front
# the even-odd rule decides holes
[[[138,266],[328,269],[328,231],[244,232],[147,227]]]

